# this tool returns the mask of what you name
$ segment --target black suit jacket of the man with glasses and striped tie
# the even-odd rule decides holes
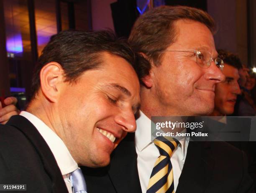
[[[106,168],[82,168],[89,193],[141,193],[134,134],[120,142]],[[225,142],[189,142],[176,193],[254,192],[246,155]]]

